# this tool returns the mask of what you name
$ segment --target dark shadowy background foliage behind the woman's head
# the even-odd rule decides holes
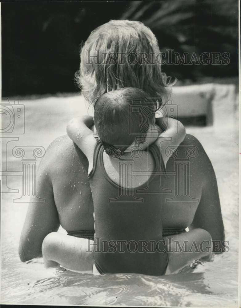
[[[79,45],[110,19],[140,20],[161,51],[229,52],[229,65],[163,65],[178,79],[238,75],[238,1],[2,3],[2,95],[74,92]]]

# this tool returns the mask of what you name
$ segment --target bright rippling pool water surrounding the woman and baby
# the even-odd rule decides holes
[[[72,106],[52,106],[50,117],[44,116],[41,100],[25,102],[26,130],[15,145],[47,145],[65,133],[65,125],[76,116]],[[55,106],[55,107],[54,107]],[[62,106],[62,107],[61,107]],[[69,105],[68,105],[69,106]],[[48,107],[48,109],[50,108]],[[62,108],[62,109],[61,109]],[[37,110],[37,111],[36,111]],[[41,113],[42,112],[42,113]],[[71,113],[72,112],[72,113]],[[61,115],[61,121],[59,116]],[[34,119],[36,117],[36,119]],[[41,124],[37,118],[42,117]],[[36,120],[36,121],[35,121]],[[40,127],[42,128],[40,130]],[[53,129],[54,127],[54,129]],[[209,306],[237,307],[238,296],[238,135],[233,128],[189,128],[203,144],[218,180],[226,240],[230,250],[215,255],[211,262],[194,262],[177,274],[154,277],[137,274],[93,276],[62,268],[44,269],[42,258],[22,263],[18,241],[26,203],[13,203],[18,194],[2,194],[1,302],[57,305],[128,305],[128,306]],[[3,150],[4,151],[4,150]],[[6,151],[5,151],[6,152]],[[6,153],[3,153],[6,154]],[[39,163],[39,160],[38,162]],[[9,158],[9,169],[20,170],[21,160]],[[9,176],[8,186],[20,189],[21,176]],[[60,232],[64,232],[60,230]]]

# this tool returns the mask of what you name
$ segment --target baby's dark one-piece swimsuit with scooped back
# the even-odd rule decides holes
[[[123,188],[110,179],[103,152],[104,147],[97,143],[89,174],[95,213],[95,266],[100,273],[163,275],[168,256],[162,234],[162,206],[158,203],[162,189],[159,178],[165,176],[159,149],[155,144],[149,147],[155,169],[148,173],[146,183],[133,189]],[[125,165],[125,159],[119,159],[120,166],[130,168],[130,160]]]

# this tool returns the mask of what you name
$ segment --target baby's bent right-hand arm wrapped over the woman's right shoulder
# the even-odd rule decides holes
[[[170,158],[170,155],[166,153],[167,147],[176,150],[186,136],[186,129],[180,121],[172,118],[157,118],[156,124],[160,128],[166,128],[156,140],[166,166]]]

